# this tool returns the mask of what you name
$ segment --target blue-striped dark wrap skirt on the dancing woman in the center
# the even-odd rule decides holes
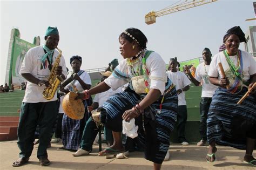
[[[159,105],[163,96],[150,105],[154,114],[153,119],[145,113],[135,119],[139,141],[145,147],[145,159],[157,164],[161,164],[165,158],[170,146],[170,134],[177,120],[178,95],[175,87],[171,88],[172,84],[169,85],[169,91],[164,94],[162,109],[159,109]],[[100,119],[110,130],[122,132],[123,113],[138,104],[143,97],[145,96],[135,93],[130,88],[114,94],[104,103]]]

